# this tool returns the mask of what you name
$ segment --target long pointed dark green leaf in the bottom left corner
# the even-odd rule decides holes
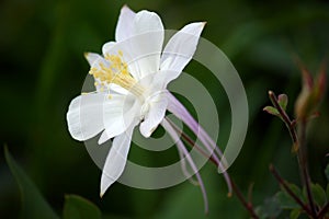
[[[22,217],[33,219],[58,219],[58,216],[43,198],[34,183],[13,160],[7,147],[4,147],[4,157],[21,191]]]

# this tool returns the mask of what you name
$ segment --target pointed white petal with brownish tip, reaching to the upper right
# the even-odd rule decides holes
[[[161,56],[161,73],[167,73],[167,83],[179,77],[192,59],[204,27],[204,22],[191,23],[175,33],[163,49]]]

